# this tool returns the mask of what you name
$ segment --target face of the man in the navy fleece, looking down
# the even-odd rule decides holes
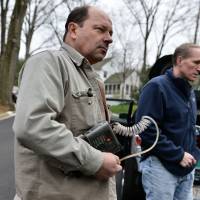
[[[177,59],[177,67],[181,77],[195,81],[200,73],[200,48],[192,48],[188,58]]]

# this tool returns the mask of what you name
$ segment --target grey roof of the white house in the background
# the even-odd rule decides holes
[[[128,78],[132,73],[133,73],[133,69],[126,69],[125,72],[125,79]],[[109,76],[106,80],[105,83],[109,83],[109,84],[120,84],[123,82],[123,72],[118,72],[115,74],[112,74],[111,76]]]

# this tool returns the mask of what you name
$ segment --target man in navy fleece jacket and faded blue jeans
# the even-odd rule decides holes
[[[200,72],[200,46],[182,44],[173,55],[173,68],[151,79],[143,88],[136,115],[156,120],[160,137],[142,157],[142,183],[147,200],[192,200],[196,147],[196,101],[190,82]],[[155,140],[152,126],[141,134],[142,149]]]

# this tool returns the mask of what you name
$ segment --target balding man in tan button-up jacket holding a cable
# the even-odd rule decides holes
[[[112,23],[103,11],[84,6],[70,13],[65,30],[60,50],[30,57],[21,71],[15,199],[116,200],[119,158],[79,137],[108,119],[91,65],[105,57]]]

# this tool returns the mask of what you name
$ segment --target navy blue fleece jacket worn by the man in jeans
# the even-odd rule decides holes
[[[179,163],[184,152],[200,157],[196,147],[196,101],[190,84],[181,78],[175,78],[172,69],[150,80],[143,88],[139,99],[136,121],[143,115],[152,117],[160,128],[160,137],[152,151],[144,154],[159,158],[164,167],[172,174],[184,176],[195,166],[182,167]],[[141,134],[142,149],[150,147],[155,141],[153,125]]]

